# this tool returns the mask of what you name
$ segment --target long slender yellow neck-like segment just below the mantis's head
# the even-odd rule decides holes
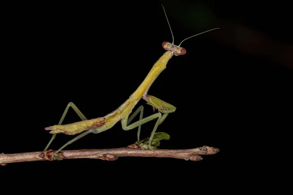
[[[140,86],[135,90],[135,92],[129,97],[134,100],[139,100],[146,95],[149,87],[155,81],[155,79],[160,75],[160,73],[166,68],[169,59],[173,56],[173,52],[167,51],[163,56],[158,59],[158,61],[153,65],[150,69],[149,73],[147,74],[144,81],[140,84]]]

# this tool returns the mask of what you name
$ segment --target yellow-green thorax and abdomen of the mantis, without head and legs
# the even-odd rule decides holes
[[[89,129],[95,129],[96,133],[101,133],[103,131],[106,131],[112,128],[118,121],[121,120],[122,128],[124,130],[128,130],[126,128],[126,123],[127,123],[129,114],[132,112],[132,109],[135,107],[138,101],[141,98],[143,98],[143,96],[145,96],[146,98],[146,94],[149,87],[154,82],[154,80],[160,75],[160,73],[166,68],[167,62],[169,61],[169,59],[171,59],[173,55],[174,55],[173,51],[166,51],[164,55],[160,59],[158,59],[158,61],[153,65],[153,67],[147,74],[146,78],[140,84],[140,86],[135,90],[135,92],[121,106],[119,106],[119,108],[107,114],[105,117],[99,117],[99,118],[94,118],[90,120],[83,120],[83,121],[66,124],[66,125],[54,125],[51,127],[47,127],[45,129],[51,130],[50,134],[63,133],[66,135],[75,135]],[[153,101],[149,102],[149,104],[151,105],[153,105],[153,103],[154,103]],[[173,107],[173,112],[175,109],[176,108]]]

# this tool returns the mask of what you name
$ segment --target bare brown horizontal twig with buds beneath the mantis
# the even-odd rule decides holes
[[[0,164],[14,162],[29,162],[50,160],[55,151],[48,150],[45,152],[28,152],[18,154],[0,154]],[[89,150],[64,150],[61,151],[58,160],[74,158],[94,158],[102,160],[117,160],[121,156],[142,156],[142,157],[170,157],[185,160],[198,161],[203,158],[199,155],[213,155],[219,152],[219,149],[203,146],[194,149],[185,150],[143,150],[136,144],[129,145],[125,148],[115,149],[89,149]],[[58,153],[59,154],[59,153]]]

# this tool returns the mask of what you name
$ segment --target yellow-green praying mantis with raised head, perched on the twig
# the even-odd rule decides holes
[[[163,9],[164,9],[164,7],[163,7]],[[164,13],[167,18],[167,14],[165,12],[165,9],[164,9]],[[168,19],[167,19],[167,22],[168,22],[169,28],[171,30]],[[219,29],[219,28],[214,28],[214,29],[199,33],[197,35],[200,35],[200,34],[215,30],[215,29]],[[151,140],[152,140],[152,138],[158,128],[158,125],[161,124],[166,119],[166,117],[169,113],[173,113],[176,110],[175,106],[173,106],[173,105],[171,105],[171,104],[169,104],[159,98],[156,98],[154,96],[150,96],[147,94],[152,83],[160,75],[160,73],[166,68],[167,62],[169,61],[169,59],[171,59],[172,56],[182,56],[182,55],[186,54],[186,49],[184,49],[183,47],[180,47],[182,42],[185,41],[186,39],[181,41],[181,43],[177,46],[177,45],[174,45],[174,37],[173,37],[172,30],[171,30],[171,34],[172,34],[172,38],[173,38],[172,43],[169,43],[167,41],[162,43],[163,48],[167,51],[163,54],[163,56],[160,59],[157,60],[157,62],[153,65],[153,67],[151,68],[151,70],[147,74],[144,81],[140,84],[140,86],[135,90],[135,92],[121,106],[119,106],[116,110],[109,113],[105,117],[99,117],[99,118],[94,118],[94,119],[88,120],[82,114],[82,112],[75,106],[74,103],[72,103],[72,102],[68,103],[58,125],[54,125],[54,126],[50,126],[50,127],[45,128],[45,130],[50,130],[49,133],[53,134],[53,136],[52,136],[51,140],[49,141],[49,143],[47,144],[44,151],[48,149],[49,145],[51,144],[53,139],[56,137],[56,134],[63,133],[65,135],[75,135],[75,134],[79,134],[81,132],[84,132],[84,133],[78,135],[77,137],[71,139],[70,141],[68,141],[61,148],[59,148],[59,150],[57,152],[55,152],[54,154],[61,151],[67,145],[73,143],[74,141],[76,141],[76,140],[78,140],[78,139],[80,139],[90,133],[98,134],[98,133],[101,133],[103,131],[106,131],[106,130],[112,128],[120,120],[121,120],[123,130],[130,130],[130,129],[134,129],[134,128],[138,127],[137,139],[139,140],[141,125],[157,118],[155,126],[151,132],[150,137],[149,137],[148,148],[150,149],[151,148],[150,147]],[[189,38],[195,37],[197,35],[193,35]],[[189,39],[189,38],[187,38],[187,39]],[[141,98],[146,100],[147,104],[153,106],[154,109],[158,109],[159,112],[155,113],[149,117],[143,118],[144,106],[140,106],[129,117],[130,113],[132,112],[132,109],[134,108],[134,106],[138,103],[138,101]],[[71,124],[66,124],[66,125],[61,125],[69,107],[72,107],[74,109],[74,111],[78,114],[78,116],[82,119],[82,121],[71,123]],[[136,117],[138,115],[138,113],[140,113],[139,120],[136,122],[133,122],[132,124],[129,125],[129,123],[132,121],[132,119],[134,117]],[[163,115],[162,115],[162,113],[163,113]]]

